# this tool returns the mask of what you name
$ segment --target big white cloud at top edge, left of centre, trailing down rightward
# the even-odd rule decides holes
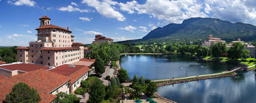
[[[102,2],[98,0],[83,0],[81,3],[86,3],[88,6],[94,7],[101,15],[109,18],[116,18],[118,21],[124,21],[126,18],[114,10],[115,7],[111,5],[116,5],[116,1],[103,0]]]

